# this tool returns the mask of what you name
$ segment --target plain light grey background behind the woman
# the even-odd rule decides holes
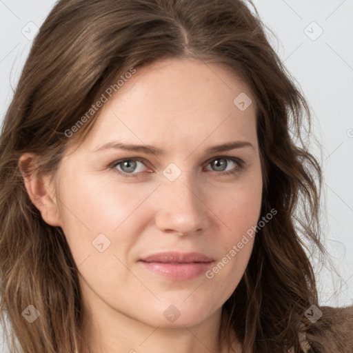
[[[54,2],[0,0],[1,119],[36,27]],[[311,105],[313,132],[323,146],[321,157],[313,145],[324,172],[322,228],[342,281],[330,268],[319,272],[315,265],[321,304],[353,304],[353,0],[254,0],[254,4],[276,34],[277,38],[268,34],[272,46]]]

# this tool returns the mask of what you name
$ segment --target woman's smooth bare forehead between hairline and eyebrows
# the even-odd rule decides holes
[[[101,108],[86,141],[90,150],[114,139],[185,150],[206,139],[255,143],[254,97],[223,65],[168,59],[136,70]],[[245,110],[239,99],[248,105]]]

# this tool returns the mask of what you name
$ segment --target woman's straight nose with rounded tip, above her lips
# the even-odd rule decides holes
[[[187,235],[208,229],[210,214],[203,202],[200,183],[183,172],[175,181],[163,180],[154,195],[157,205],[155,221],[161,232]]]

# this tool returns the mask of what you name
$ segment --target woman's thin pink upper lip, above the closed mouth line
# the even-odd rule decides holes
[[[208,263],[213,261],[209,256],[201,254],[199,252],[161,252],[159,254],[153,254],[141,259],[145,262],[160,262],[160,263],[193,263],[203,262]]]

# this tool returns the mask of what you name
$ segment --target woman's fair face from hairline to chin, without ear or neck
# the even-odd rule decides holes
[[[107,318],[201,323],[220,314],[252,252],[254,99],[222,66],[191,59],[137,68],[107,97],[54,179],[85,303]]]

